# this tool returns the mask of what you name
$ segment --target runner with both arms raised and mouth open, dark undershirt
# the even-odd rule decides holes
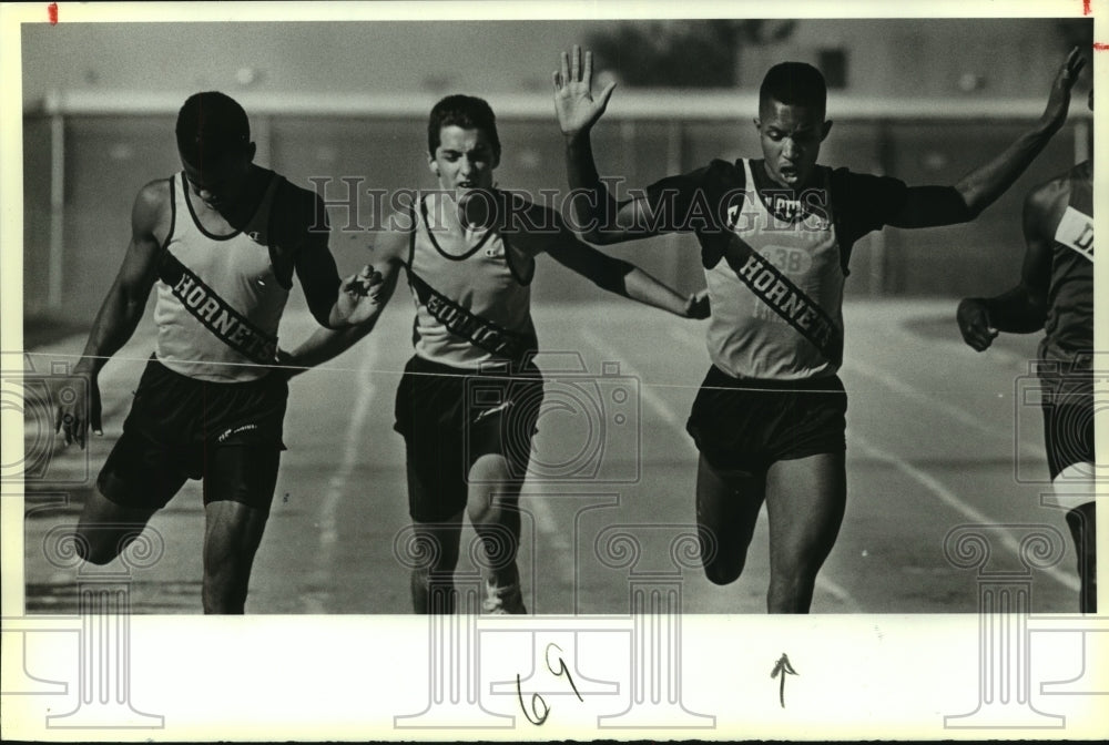
[[[953,186],[910,188],[895,178],[818,166],[832,127],[827,88],[812,65],[784,62],[766,73],[759,93],[754,123],[762,161],[713,161],[617,203],[590,144],[614,84],[594,99],[592,57],[582,59],[577,47],[562,53],[554,106],[570,187],[586,192],[573,203],[578,221],[594,226],[586,238],[613,244],[684,231],[701,244],[712,292],[713,367],[688,428],[701,453],[696,513],[712,582],[740,576],[765,501],[767,610],[808,611],[846,501],[846,400],[834,374],[843,351],[840,304],[852,245],[887,224],[973,220],[1062,126],[1082,63],[1075,49],[1044,115],[1017,143]],[[777,221],[784,223],[781,237],[774,234]]]

